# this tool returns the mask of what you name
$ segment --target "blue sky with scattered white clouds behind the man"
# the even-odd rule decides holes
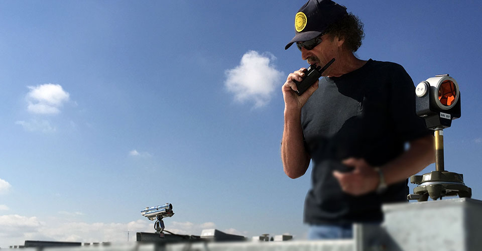
[[[1,2],[0,247],[134,240],[152,229],[140,210],[166,202],[179,233],[304,238],[311,169],[292,180],[279,157],[304,3]],[[359,58],[457,80],[445,167],[482,198],[482,4],[338,3],[365,24]]]

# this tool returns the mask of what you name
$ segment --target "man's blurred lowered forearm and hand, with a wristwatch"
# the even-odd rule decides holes
[[[434,162],[434,138],[428,135],[411,141],[410,148],[407,151],[379,168],[387,185],[391,185],[404,181]],[[374,167],[370,166],[364,159],[350,158],[343,161],[343,164],[354,168],[353,171],[348,173],[333,172],[344,192],[362,195],[377,189],[380,176]]]

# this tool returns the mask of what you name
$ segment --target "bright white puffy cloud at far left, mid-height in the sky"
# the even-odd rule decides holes
[[[56,114],[62,104],[69,100],[70,94],[58,84],[28,86],[27,110],[37,114]]]

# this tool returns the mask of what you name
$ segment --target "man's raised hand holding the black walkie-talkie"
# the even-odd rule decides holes
[[[293,82],[293,80],[296,80],[300,82],[303,80],[303,77],[305,76],[306,68],[301,68],[293,73],[290,73],[288,75],[288,78],[286,78],[286,82],[283,84],[283,87],[281,87],[281,90],[283,91],[283,98],[285,100],[285,110],[290,110],[290,109],[301,109],[303,105],[305,105],[306,101],[308,101],[308,98],[315,92],[316,89],[318,89],[318,82],[319,80],[316,80],[316,82],[310,86],[301,96],[298,96],[296,92],[293,90],[298,90],[296,87],[296,83]]]

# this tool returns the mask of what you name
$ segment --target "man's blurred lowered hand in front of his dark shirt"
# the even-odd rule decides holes
[[[348,173],[333,171],[343,192],[358,196],[377,189],[380,176],[364,159],[349,158],[343,164],[354,168]]]

